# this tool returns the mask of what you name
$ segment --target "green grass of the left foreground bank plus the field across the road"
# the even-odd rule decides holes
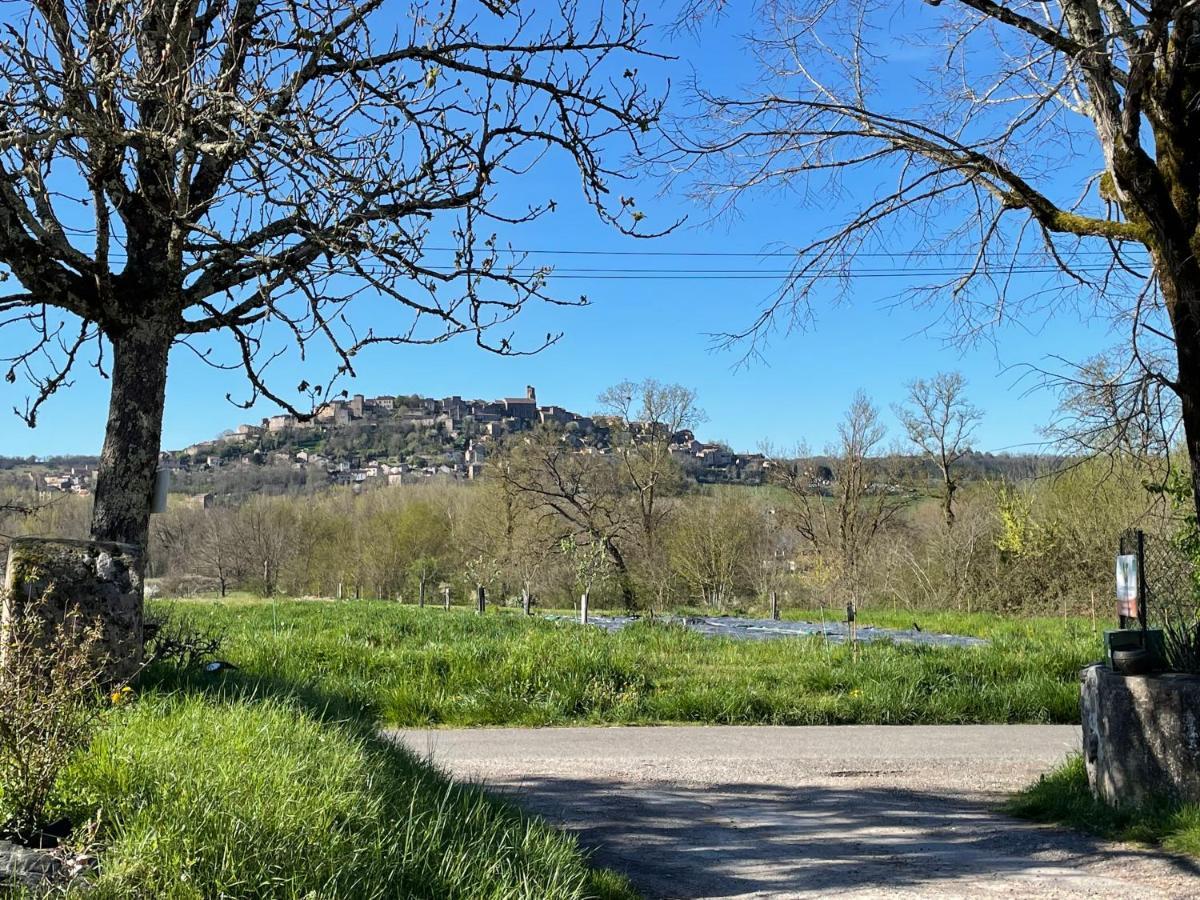
[[[378,601],[160,601],[239,668],[158,666],[61,779],[89,896],[632,898],[575,841],[382,740],[390,725],[1075,721],[1090,623],[925,614],[976,648],[618,634]],[[805,618],[793,613],[797,618]],[[820,613],[806,618],[816,618]],[[865,612],[904,626],[911,613]]]

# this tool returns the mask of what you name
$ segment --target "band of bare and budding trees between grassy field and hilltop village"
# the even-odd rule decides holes
[[[733,610],[775,592],[805,607],[1080,610],[1110,593],[1123,529],[1171,527],[1134,457],[960,484],[980,414],[956,374],[913,383],[896,408],[929,464],[898,454],[858,395],[835,445],[768,454],[762,487],[684,476],[670,444],[703,419],[690,390],[624,383],[601,404],[608,452],[542,428],[510,438],[478,482],[181,503],[156,520],[152,574],[167,593],[420,604],[482,586],[493,601],[553,607],[586,593],[594,606]]]

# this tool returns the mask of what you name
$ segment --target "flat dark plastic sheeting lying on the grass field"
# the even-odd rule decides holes
[[[559,620],[571,620],[569,616],[551,616],[547,618]],[[577,622],[577,619],[575,619]],[[602,628],[606,631],[619,631],[635,622],[641,622],[640,616],[590,616],[588,624]],[[712,618],[701,616],[659,616],[655,622],[683,625],[702,635],[715,635],[718,637],[736,637],[744,641],[775,641],[781,637],[815,637],[824,636],[827,641],[842,643],[848,637],[848,626],[845,622],[787,622],[773,619],[737,619],[725,616]],[[965,635],[940,635],[932,631],[919,631],[917,629],[876,628],[875,625],[858,626],[859,641],[894,641],[895,643],[913,643],[926,647],[982,647],[988,643],[982,637],[967,637]]]

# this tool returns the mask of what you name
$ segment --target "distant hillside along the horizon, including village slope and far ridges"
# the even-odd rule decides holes
[[[560,406],[545,406],[529,386],[523,396],[500,400],[443,398],[418,395],[344,396],[311,420],[275,415],[242,424],[223,434],[163,455],[174,470],[172,491],[194,496],[244,497],[293,493],[329,485],[407,484],[427,479],[478,478],[497,443],[539,425],[560,427],[581,451],[610,448],[610,422]],[[672,437],[671,451],[701,484],[761,484],[764,458],[706,443],[690,431]],[[816,472],[827,457],[803,461]],[[1028,454],[968,454],[959,479],[1019,481],[1052,470],[1060,457]],[[88,493],[96,458],[49,460],[0,457],[0,487]],[[894,456],[888,469],[898,480],[935,480],[936,472],[918,456]],[[820,476],[818,476],[820,478]]]

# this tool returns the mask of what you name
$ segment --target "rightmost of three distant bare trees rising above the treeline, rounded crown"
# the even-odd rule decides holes
[[[896,407],[908,439],[920,448],[942,476],[942,514],[954,527],[954,464],[971,452],[971,439],[983,412],[966,398],[966,380],[959,372],[938,372],[931,379],[908,384],[908,400]]]

